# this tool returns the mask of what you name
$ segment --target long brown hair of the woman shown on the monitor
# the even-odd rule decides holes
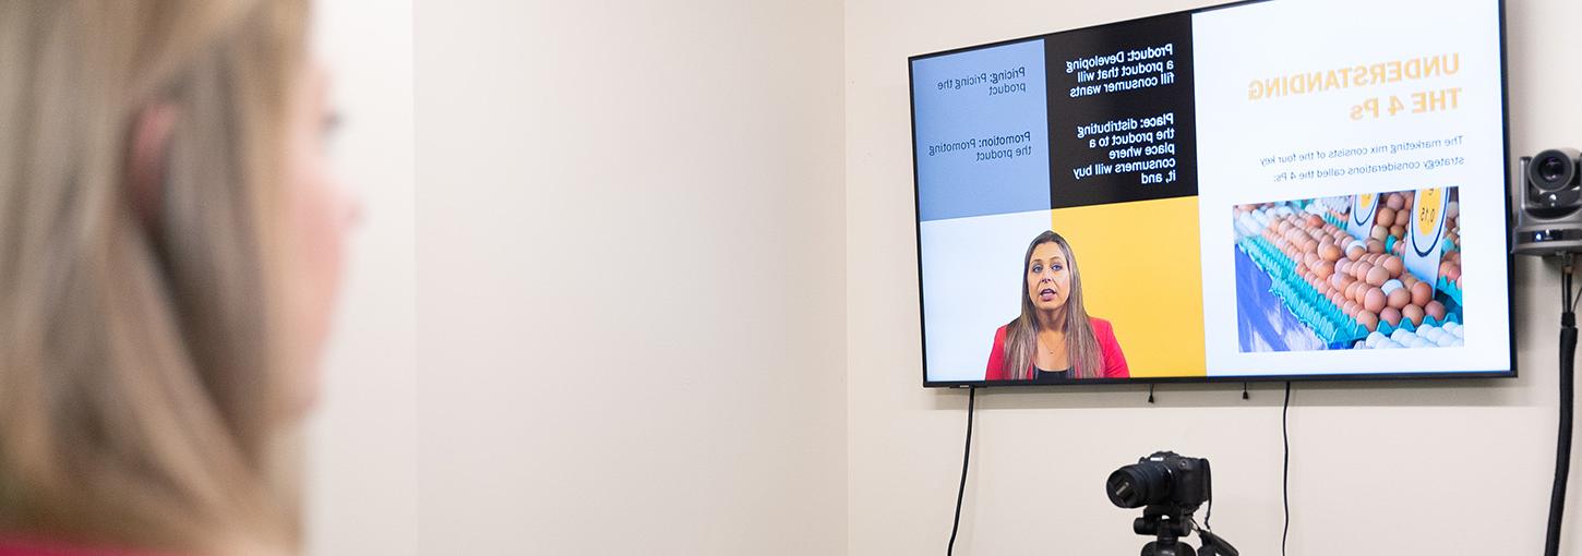
[[[1033,261],[1033,250],[1044,243],[1060,246],[1066,257],[1066,269],[1071,273],[1071,294],[1066,297],[1066,360],[1071,362],[1071,378],[1088,379],[1104,376],[1104,352],[1093,335],[1093,324],[1088,321],[1087,308],[1082,305],[1082,272],[1077,270],[1077,257],[1071,253],[1071,243],[1052,231],[1044,231],[1027,245],[1022,256],[1022,280],[1017,287],[1022,295],[1022,314],[1011,319],[1005,330],[1005,376],[1008,379],[1033,378],[1033,351],[1038,349],[1038,310],[1027,292],[1027,265]]]

